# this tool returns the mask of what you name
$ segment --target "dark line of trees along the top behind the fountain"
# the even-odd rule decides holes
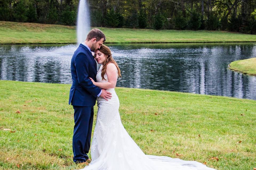
[[[79,0],[0,0],[0,20],[75,25]],[[256,0],[89,0],[91,26],[256,34]]]

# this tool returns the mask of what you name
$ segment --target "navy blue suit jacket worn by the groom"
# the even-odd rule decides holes
[[[94,106],[101,89],[96,82],[97,64],[90,50],[80,44],[71,59],[72,86],[69,92],[69,104],[73,106]]]

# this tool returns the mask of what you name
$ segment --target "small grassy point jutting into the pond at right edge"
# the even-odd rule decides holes
[[[229,69],[256,76],[256,58],[233,61],[230,63]]]

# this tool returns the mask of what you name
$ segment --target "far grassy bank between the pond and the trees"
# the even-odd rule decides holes
[[[256,42],[256,35],[226,31],[100,28],[106,43]],[[74,26],[0,21],[0,44],[76,43]]]

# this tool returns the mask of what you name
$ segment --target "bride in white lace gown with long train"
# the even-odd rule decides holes
[[[100,67],[95,86],[112,93],[108,101],[97,97],[98,114],[91,145],[91,163],[84,170],[213,170],[196,161],[167,156],[145,155],[122,125],[119,100],[115,93],[120,69],[110,49],[102,45],[95,51]]]

